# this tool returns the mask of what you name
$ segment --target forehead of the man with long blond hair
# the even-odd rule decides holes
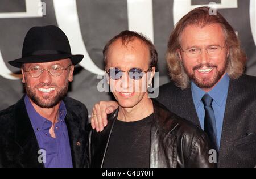
[[[210,24],[205,27],[188,25],[181,33],[181,44],[193,45],[220,45],[224,43],[225,35],[220,24]]]

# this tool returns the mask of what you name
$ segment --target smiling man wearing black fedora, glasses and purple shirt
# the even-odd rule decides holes
[[[0,167],[83,167],[88,112],[66,97],[74,65],[60,28],[33,27],[24,39],[21,68],[26,95],[0,112]]]

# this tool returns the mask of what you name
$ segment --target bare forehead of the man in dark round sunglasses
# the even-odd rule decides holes
[[[148,66],[150,52],[148,46],[139,39],[134,39],[126,45],[118,39],[110,45],[107,59],[108,65],[115,67]]]

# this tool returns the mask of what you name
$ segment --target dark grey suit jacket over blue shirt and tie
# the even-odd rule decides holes
[[[158,100],[171,112],[200,126],[191,88],[181,90],[170,82],[159,87]],[[230,79],[222,127],[218,167],[256,165],[256,78]]]

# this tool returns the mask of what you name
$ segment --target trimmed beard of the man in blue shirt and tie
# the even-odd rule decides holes
[[[205,66],[207,68],[216,69],[216,73],[214,73],[211,78],[198,78],[195,75],[195,70],[201,69],[203,66]],[[205,65],[199,64],[199,65],[193,67],[192,72],[189,72],[189,70],[183,64],[185,73],[188,75],[189,79],[191,79],[199,88],[212,88],[221,79],[221,77],[224,75],[224,73],[227,69],[227,66],[228,66],[228,63],[226,62],[224,67],[222,67],[220,70],[218,70],[216,65],[213,65],[213,64],[210,64],[210,63],[207,63]]]

